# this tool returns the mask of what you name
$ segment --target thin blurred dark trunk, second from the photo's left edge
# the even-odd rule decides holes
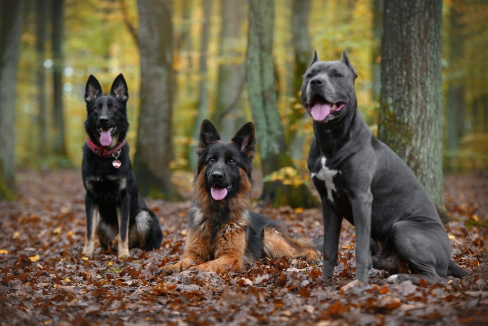
[[[38,102],[38,128],[39,143],[38,154],[45,159],[48,153],[48,126],[46,108],[46,75],[44,68],[44,43],[46,41],[46,2],[37,1],[36,6],[36,53],[37,53],[37,102]]]

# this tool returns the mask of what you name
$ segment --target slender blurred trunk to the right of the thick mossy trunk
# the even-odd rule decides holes
[[[459,7],[452,6],[449,12],[449,72],[447,75],[447,150],[456,155],[461,137],[464,135],[465,111],[465,37]]]

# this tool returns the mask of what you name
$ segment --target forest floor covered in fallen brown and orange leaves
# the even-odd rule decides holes
[[[446,226],[454,260],[469,272],[441,284],[388,284],[371,270],[354,286],[354,228],[343,223],[339,265],[322,281],[322,262],[264,260],[224,274],[185,271],[158,277],[181,258],[189,202],[149,200],[164,239],[160,250],[132,249],[127,261],[82,258],[84,190],[79,170],[21,171],[18,200],[0,202],[0,325],[486,325],[488,179],[445,178]],[[323,235],[316,209],[255,210],[297,236]]]

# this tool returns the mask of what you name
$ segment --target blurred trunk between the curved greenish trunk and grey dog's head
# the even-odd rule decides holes
[[[300,132],[298,125],[306,116],[306,112],[300,103],[300,89],[302,88],[302,75],[305,73],[312,55],[312,44],[308,32],[308,18],[310,15],[311,0],[293,0],[292,18],[292,42],[295,49],[295,67],[293,74],[293,97],[296,99],[291,108],[289,128],[287,138],[290,143],[291,157],[301,159],[305,135]]]

